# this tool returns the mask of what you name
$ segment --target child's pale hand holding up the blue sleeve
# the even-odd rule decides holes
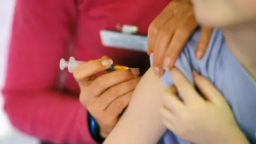
[[[174,85],[183,101],[175,89],[169,87],[165,92],[161,114],[166,127],[193,143],[249,143],[222,94],[207,78],[195,71],[193,75],[204,98],[178,69],[171,70]]]

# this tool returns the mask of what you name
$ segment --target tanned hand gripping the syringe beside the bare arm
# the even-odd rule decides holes
[[[73,73],[81,89],[79,99],[99,123],[103,138],[113,130],[140,81],[139,70],[113,71],[95,76],[112,63],[107,57],[91,60],[77,67]]]

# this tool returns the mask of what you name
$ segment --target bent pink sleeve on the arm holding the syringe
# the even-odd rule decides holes
[[[55,143],[95,143],[87,110],[57,92],[76,9],[70,0],[17,0],[3,89],[5,111],[20,131]]]

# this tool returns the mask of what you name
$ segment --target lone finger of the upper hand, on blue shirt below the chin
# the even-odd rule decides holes
[[[213,33],[213,28],[204,28],[203,27],[201,29],[199,41],[197,43],[196,51],[195,51],[196,59],[199,60],[204,57],[204,54],[205,54],[207,47],[209,45],[209,42],[211,40],[212,33]]]

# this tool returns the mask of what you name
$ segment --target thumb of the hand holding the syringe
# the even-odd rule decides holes
[[[87,77],[91,77],[100,71],[108,69],[112,64],[113,60],[109,59],[108,57],[102,57],[101,59],[97,60],[90,60],[78,66],[74,70],[73,76],[77,82],[81,82]]]

